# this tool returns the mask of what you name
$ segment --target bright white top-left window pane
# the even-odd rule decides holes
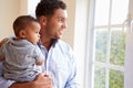
[[[95,26],[109,23],[109,2],[110,0],[95,0]]]

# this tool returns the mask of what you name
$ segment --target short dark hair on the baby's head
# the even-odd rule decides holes
[[[31,24],[31,22],[38,22],[38,21],[31,15],[18,16],[13,22],[13,31],[16,36],[19,36],[19,32],[21,30],[24,30],[29,24]]]

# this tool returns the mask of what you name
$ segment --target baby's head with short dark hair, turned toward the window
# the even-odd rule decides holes
[[[31,15],[20,15],[13,22],[13,31],[17,38],[28,40],[37,44],[40,38],[40,24]]]

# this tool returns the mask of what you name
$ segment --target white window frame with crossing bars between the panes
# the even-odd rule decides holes
[[[120,28],[120,26],[123,26],[123,24],[114,24],[114,25],[111,25],[111,10],[112,10],[112,0],[111,1],[111,4],[110,4],[110,15],[109,15],[109,26],[106,25],[103,25],[103,26],[95,26],[94,28],[94,10],[95,10],[95,0],[90,0],[90,11],[89,11],[89,31],[88,31],[88,41],[86,41],[86,72],[85,73],[88,79],[88,84],[85,84],[85,88],[94,88],[94,82],[93,82],[93,77],[94,77],[94,73],[92,73],[91,70],[93,70],[93,65],[92,64],[95,64],[100,67],[105,67],[105,73],[106,73],[106,84],[105,84],[105,88],[109,88],[109,70],[110,69],[115,69],[115,70],[120,70],[120,72],[123,72],[124,73],[124,66],[121,67],[121,66],[115,66],[115,65],[111,65],[110,64],[110,51],[108,51],[108,62],[105,64],[103,63],[99,63],[99,62],[94,62],[93,59],[91,58],[94,58],[94,32],[93,32],[93,29],[103,29],[103,28],[108,28],[108,29],[111,29],[111,28]],[[126,25],[124,25],[125,28]],[[111,31],[111,30],[109,30]],[[111,32],[110,32],[111,33]],[[111,35],[109,35],[109,41],[111,42]],[[109,43],[108,45],[108,48],[110,50],[111,43]],[[91,51],[91,52],[90,52]],[[91,79],[91,80],[90,80]],[[85,82],[86,82],[85,81]]]

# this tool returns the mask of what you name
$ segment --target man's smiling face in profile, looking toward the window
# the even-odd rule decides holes
[[[58,9],[51,18],[47,19],[44,26],[48,38],[61,38],[63,31],[66,29],[66,10]]]

